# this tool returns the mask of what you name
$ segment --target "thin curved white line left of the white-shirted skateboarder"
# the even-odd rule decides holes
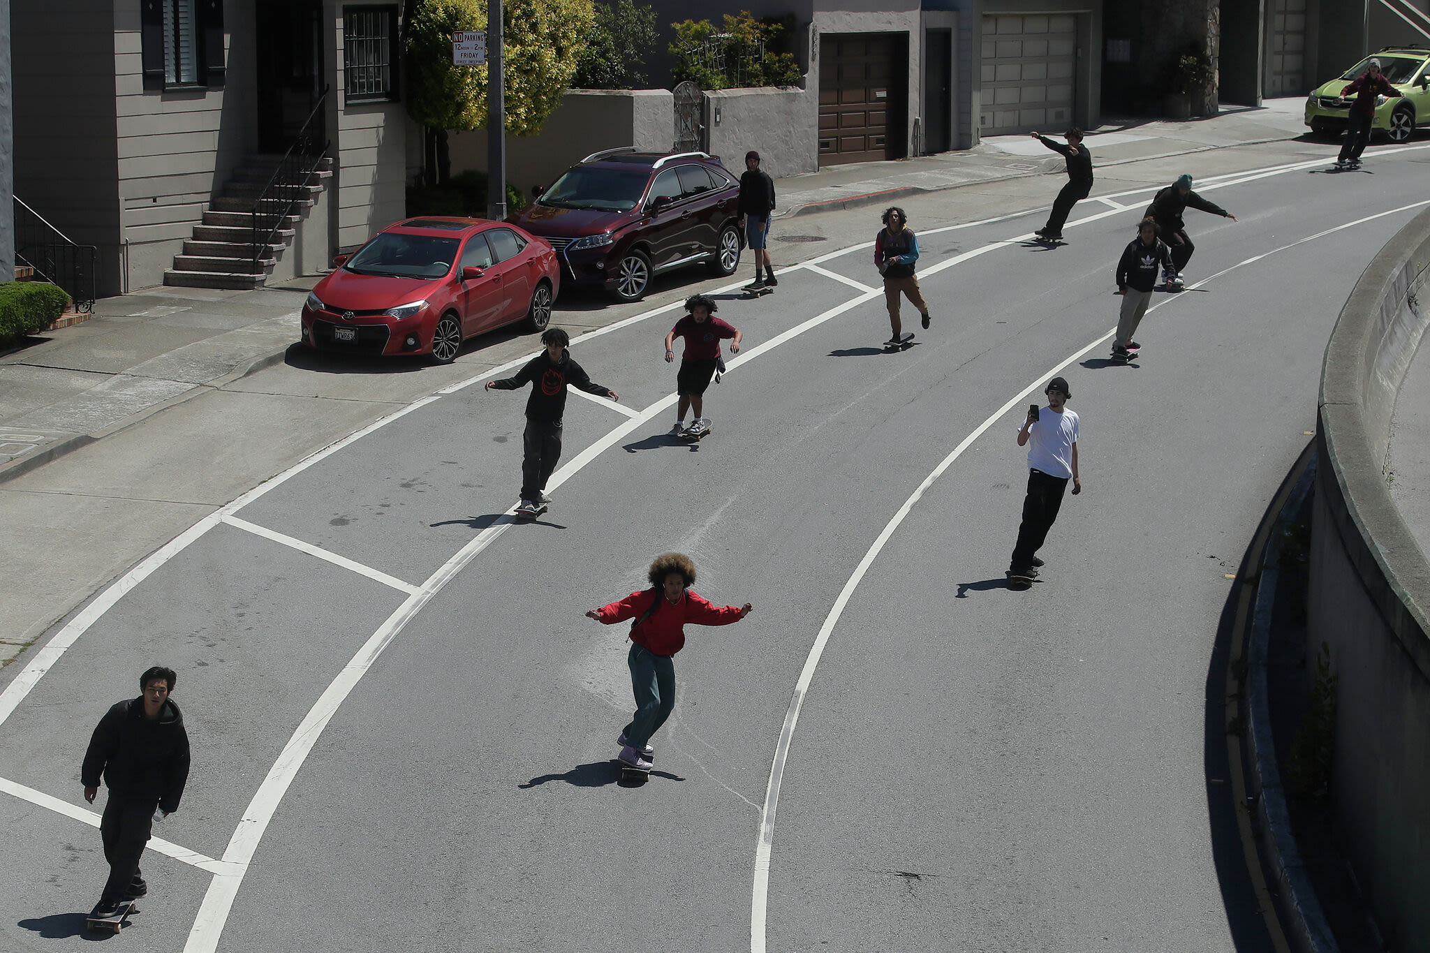
[[[1307,241],[1321,239],[1336,231],[1344,231],[1346,229],[1353,229],[1358,224],[1364,224],[1376,219],[1383,219],[1386,216],[1399,214],[1401,211],[1409,211],[1411,209],[1419,209],[1420,206],[1430,206],[1430,199],[1400,206],[1399,209],[1379,211],[1376,214],[1366,216],[1363,219],[1356,219],[1354,221],[1346,221],[1343,224],[1326,229],[1324,231],[1317,231],[1316,234],[1298,239],[1277,249],[1271,249],[1270,251],[1251,256],[1250,259],[1246,259],[1244,261],[1238,261],[1237,264],[1233,264],[1228,269],[1217,271],[1216,274],[1190,287],[1193,289],[1201,287],[1208,281],[1227,274],[1228,271],[1234,271],[1243,266],[1260,261],[1261,259],[1270,257],[1280,251],[1286,251],[1300,244],[1306,244]],[[1170,304],[1173,300],[1175,299],[1164,300],[1147,310],[1148,313],[1151,313],[1158,307],[1163,307],[1164,304]],[[785,764],[789,760],[789,749],[794,743],[795,727],[799,724],[799,710],[801,707],[804,707],[805,694],[809,692],[809,684],[814,682],[815,669],[819,666],[819,660],[824,657],[824,649],[829,642],[829,634],[834,632],[834,627],[838,624],[839,617],[844,614],[844,607],[854,596],[854,590],[858,589],[859,582],[862,582],[865,573],[868,573],[869,567],[874,564],[874,560],[878,559],[878,554],[884,550],[884,544],[888,543],[894,532],[899,527],[899,524],[904,523],[909,512],[914,509],[914,504],[918,503],[918,500],[934,484],[934,482],[938,480],[938,477],[942,476],[944,471],[948,470],[948,467],[952,466],[952,463],[962,456],[964,450],[972,446],[972,443],[978,437],[981,437],[988,430],[988,427],[1001,420],[1004,414],[1010,413],[1014,407],[1021,404],[1024,399],[1035,393],[1045,380],[1058,374],[1068,364],[1077,361],[1084,354],[1091,351],[1094,347],[1104,344],[1115,333],[1117,329],[1113,327],[1101,337],[1094,340],[1091,344],[1087,344],[1085,347],[1070,356],[1067,360],[1052,367],[1052,370],[1034,379],[1031,384],[1018,391],[1014,397],[1008,400],[1008,403],[1005,403],[1002,407],[990,414],[988,419],[984,420],[981,424],[978,424],[978,427],[972,433],[964,437],[958,443],[958,446],[954,447],[950,451],[950,454],[944,457],[942,461],[940,461],[937,467],[934,467],[934,471],[930,473],[927,477],[924,477],[924,482],[918,484],[914,493],[909,494],[907,500],[904,500],[904,506],[901,506],[889,519],[889,522],[884,526],[884,530],[878,534],[878,537],[875,537],[872,546],[869,546],[868,552],[864,554],[864,559],[861,559],[859,564],[854,569],[854,574],[849,576],[848,582],[844,583],[844,589],[839,590],[839,596],[834,600],[834,606],[829,607],[829,614],[825,616],[824,624],[819,626],[819,633],[815,636],[814,644],[809,647],[809,654],[805,657],[804,667],[799,670],[799,679],[795,682],[795,692],[794,696],[789,699],[789,709],[785,713],[785,723],[779,730],[779,740],[775,743],[775,757],[769,767],[769,782],[765,786],[765,806],[761,812],[759,839],[755,842],[755,874],[749,900],[751,953],[765,953],[765,923],[769,912],[769,857],[775,842],[775,814],[779,807],[779,789],[781,784],[784,783]]]

